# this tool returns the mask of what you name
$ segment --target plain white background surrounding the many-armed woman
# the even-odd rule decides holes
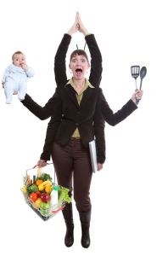
[[[14,51],[22,50],[27,64],[36,71],[28,83],[28,93],[41,105],[53,95],[53,57],[77,10],[89,32],[97,38],[104,60],[101,87],[114,111],[126,103],[135,89],[130,67],[140,65],[148,69],[143,79],[143,100],[137,111],[115,127],[106,125],[107,160],[104,169],[93,177],[92,243],[88,249],[80,244],[76,210],[75,243],[67,248],[62,214],[43,222],[25,204],[20,192],[22,176],[40,157],[48,120],[33,116],[17,96],[7,105],[0,89],[3,256],[96,255],[98,250],[106,256],[156,256],[155,1],[1,0],[0,9],[0,76]],[[76,44],[84,46],[80,33],[73,37],[70,52],[76,49]]]

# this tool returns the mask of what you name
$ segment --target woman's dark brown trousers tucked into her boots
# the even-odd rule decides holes
[[[81,140],[71,138],[64,147],[53,143],[53,165],[58,183],[71,190],[79,212],[91,210],[89,189],[93,176],[88,148],[83,148]],[[72,183],[73,181],[73,183]]]

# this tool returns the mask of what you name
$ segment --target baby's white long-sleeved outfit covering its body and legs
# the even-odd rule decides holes
[[[25,99],[27,81],[34,76],[34,70],[27,67],[27,71],[22,67],[8,65],[3,73],[4,93],[6,96],[6,103],[10,104],[13,100],[13,93],[17,91],[20,101]]]

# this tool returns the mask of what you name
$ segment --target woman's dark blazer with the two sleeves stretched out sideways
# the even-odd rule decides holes
[[[55,142],[60,145],[66,145],[70,141],[70,137],[79,129],[81,141],[85,147],[94,138],[93,117],[95,111],[102,111],[104,119],[109,125],[116,125],[131,114],[136,108],[136,104],[130,100],[126,105],[116,113],[109,108],[102,90],[100,88],[90,88],[85,90],[81,104],[78,105],[75,90],[69,85],[63,89],[56,89],[53,97],[49,99],[47,104],[42,108],[34,102],[30,96],[26,95],[22,101],[26,108],[29,108],[39,119],[48,119],[48,117],[56,117],[57,106],[62,105],[62,120],[55,137]],[[58,115],[58,113],[57,113]]]

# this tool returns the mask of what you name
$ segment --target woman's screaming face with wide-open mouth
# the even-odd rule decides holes
[[[70,61],[70,69],[73,73],[73,78],[76,80],[84,79],[87,74],[89,63],[84,55],[75,55]]]

